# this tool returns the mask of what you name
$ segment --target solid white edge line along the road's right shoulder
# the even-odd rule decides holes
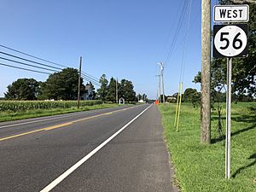
[[[148,108],[150,108],[152,106],[152,104],[150,106],[148,106]],[[77,168],[79,168],[79,166],[81,166],[82,164],[84,164],[84,162],[86,160],[89,160],[90,157],[94,154],[96,154],[97,151],[99,151],[101,148],[103,148],[107,143],[109,143],[114,137],[116,137],[117,135],[119,135],[119,133],[121,131],[124,131],[125,128],[129,125],[131,125],[131,123],[136,120],[139,116],[141,116],[145,111],[148,110],[148,108],[144,109],[142,113],[139,113],[135,118],[131,119],[131,121],[129,121],[129,123],[127,123],[125,126],[123,126],[121,129],[119,129],[119,131],[116,131],[111,137],[108,137],[107,140],[105,140],[102,144],[100,144],[98,147],[96,147],[95,149],[93,149],[89,154],[86,154],[81,160],[79,160],[76,164],[74,164],[73,166],[71,166],[69,169],[67,169],[66,172],[63,172],[59,177],[55,178],[54,181],[52,181],[51,183],[49,183],[44,189],[40,190],[40,192],[49,192],[51,189],[54,189],[55,186],[59,183],[61,183],[61,181],[63,179],[65,179],[68,175],[70,175],[72,172],[74,172]]]

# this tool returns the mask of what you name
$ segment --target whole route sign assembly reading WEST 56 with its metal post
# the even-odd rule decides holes
[[[247,22],[249,6],[216,5],[213,9],[214,22]],[[231,137],[231,74],[232,57],[247,56],[247,24],[213,26],[213,57],[227,58],[226,93],[226,141],[225,141],[225,177],[230,178],[230,137]]]

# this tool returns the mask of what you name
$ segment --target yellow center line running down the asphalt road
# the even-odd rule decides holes
[[[137,106],[131,107],[131,108],[137,108]],[[67,123],[64,123],[64,124],[53,125],[53,126],[44,127],[42,129],[38,129],[38,130],[35,130],[35,131],[28,131],[28,132],[24,132],[24,133],[20,133],[20,134],[14,135],[14,136],[3,137],[3,138],[0,138],[0,142],[4,141],[4,140],[15,138],[15,137],[26,136],[28,134],[32,134],[32,133],[39,132],[39,131],[50,131],[50,130],[57,129],[57,128],[60,128],[60,127],[63,127],[63,126],[72,125],[72,124],[80,122],[80,121],[84,121],[84,120],[88,120],[88,119],[94,119],[94,118],[97,118],[97,117],[100,117],[100,116],[103,116],[103,115],[117,113],[119,111],[125,111],[125,110],[131,109],[131,108],[123,108],[123,109],[119,109],[119,110],[116,110],[116,111],[113,111],[113,112],[97,114],[97,115],[94,115],[94,116],[91,116],[91,117],[87,117],[87,118],[84,118],[84,119],[73,120],[73,121],[70,121],[70,122],[67,122]]]

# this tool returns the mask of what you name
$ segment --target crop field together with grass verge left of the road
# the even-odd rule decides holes
[[[0,122],[119,106],[118,104],[101,104],[100,102],[82,101],[81,107],[78,109],[74,105],[76,103],[77,102],[0,102]]]

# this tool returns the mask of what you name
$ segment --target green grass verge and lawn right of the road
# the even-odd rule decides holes
[[[160,105],[166,143],[182,191],[256,191],[256,103],[232,105],[231,178],[224,178],[224,140],[218,137],[218,115],[212,113],[212,144],[200,143],[200,109],[183,103],[178,131],[175,104]],[[223,104],[225,108],[225,103]],[[225,111],[222,113],[225,133]]]

